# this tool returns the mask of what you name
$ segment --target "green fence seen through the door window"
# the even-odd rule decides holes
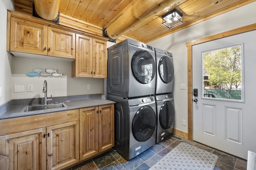
[[[216,98],[220,99],[233,99],[241,100],[241,90],[217,90],[217,89],[204,89],[204,95],[214,95]]]

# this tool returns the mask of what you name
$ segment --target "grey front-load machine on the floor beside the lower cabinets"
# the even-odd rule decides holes
[[[155,145],[156,105],[154,96],[137,99],[109,97],[115,101],[115,149],[126,160]]]

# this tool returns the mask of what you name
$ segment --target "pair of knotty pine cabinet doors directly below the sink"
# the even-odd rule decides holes
[[[62,169],[79,162],[79,121],[0,137],[5,169]]]

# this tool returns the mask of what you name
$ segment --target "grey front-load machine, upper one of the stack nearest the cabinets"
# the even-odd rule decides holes
[[[155,50],[126,39],[108,48],[107,95],[122,99],[155,93]]]

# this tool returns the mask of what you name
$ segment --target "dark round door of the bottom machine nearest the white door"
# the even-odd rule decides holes
[[[159,112],[159,122],[163,129],[170,129],[174,125],[174,105],[170,101],[162,104]]]

